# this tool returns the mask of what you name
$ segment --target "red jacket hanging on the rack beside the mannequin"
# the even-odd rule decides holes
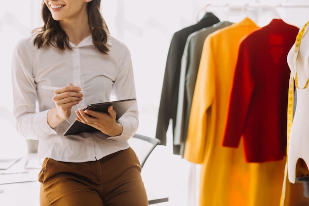
[[[243,137],[247,162],[277,161],[286,155],[286,58],[298,31],[273,19],[240,43],[223,146],[238,147]]]

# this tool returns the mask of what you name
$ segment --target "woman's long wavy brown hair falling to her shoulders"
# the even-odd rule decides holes
[[[95,47],[103,54],[109,52],[107,47],[107,38],[109,30],[100,10],[101,0],[92,0],[87,3],[88,21],[92,30],[92,41]],[[42,46],[52,45],[60,50],[70,49],[69,37],[60,27],[59,21],[52,18],[52,15],[42,0],[41,17],[44,25],[32,31],[38,32],[34,44],[38,48]]]

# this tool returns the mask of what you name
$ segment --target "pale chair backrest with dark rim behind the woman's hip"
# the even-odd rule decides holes
[[[136,153],[142,168],[145,165],[146,160],[148,159],[150,154],[153,152],[156,145],[158,145],[159,143],[159,139],[144,136],[141,134],[134,134],[134,136],[129,139],[129,144]]]

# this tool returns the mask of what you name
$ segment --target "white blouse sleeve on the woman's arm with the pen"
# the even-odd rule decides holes
[[[27,40],[19,41],[12,53],[13,115],[18,133],[26,139],[39,139],[56,131],[47,124],[47,110],[36,112],[37,90],[31,56],[35,47]]]

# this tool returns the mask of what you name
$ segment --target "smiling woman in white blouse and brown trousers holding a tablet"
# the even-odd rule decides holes
[[[108,114],[80,109],[136,98],[130,52],[109,34],[100,3],[44,0],[43,27],[13,52],[13,112],[17,130],[39,139],[41,206],[148,205],[127,142],[138,127],[137,104],[118,121],[113,107]],[[64,136],[76,119],[99,131]]]

